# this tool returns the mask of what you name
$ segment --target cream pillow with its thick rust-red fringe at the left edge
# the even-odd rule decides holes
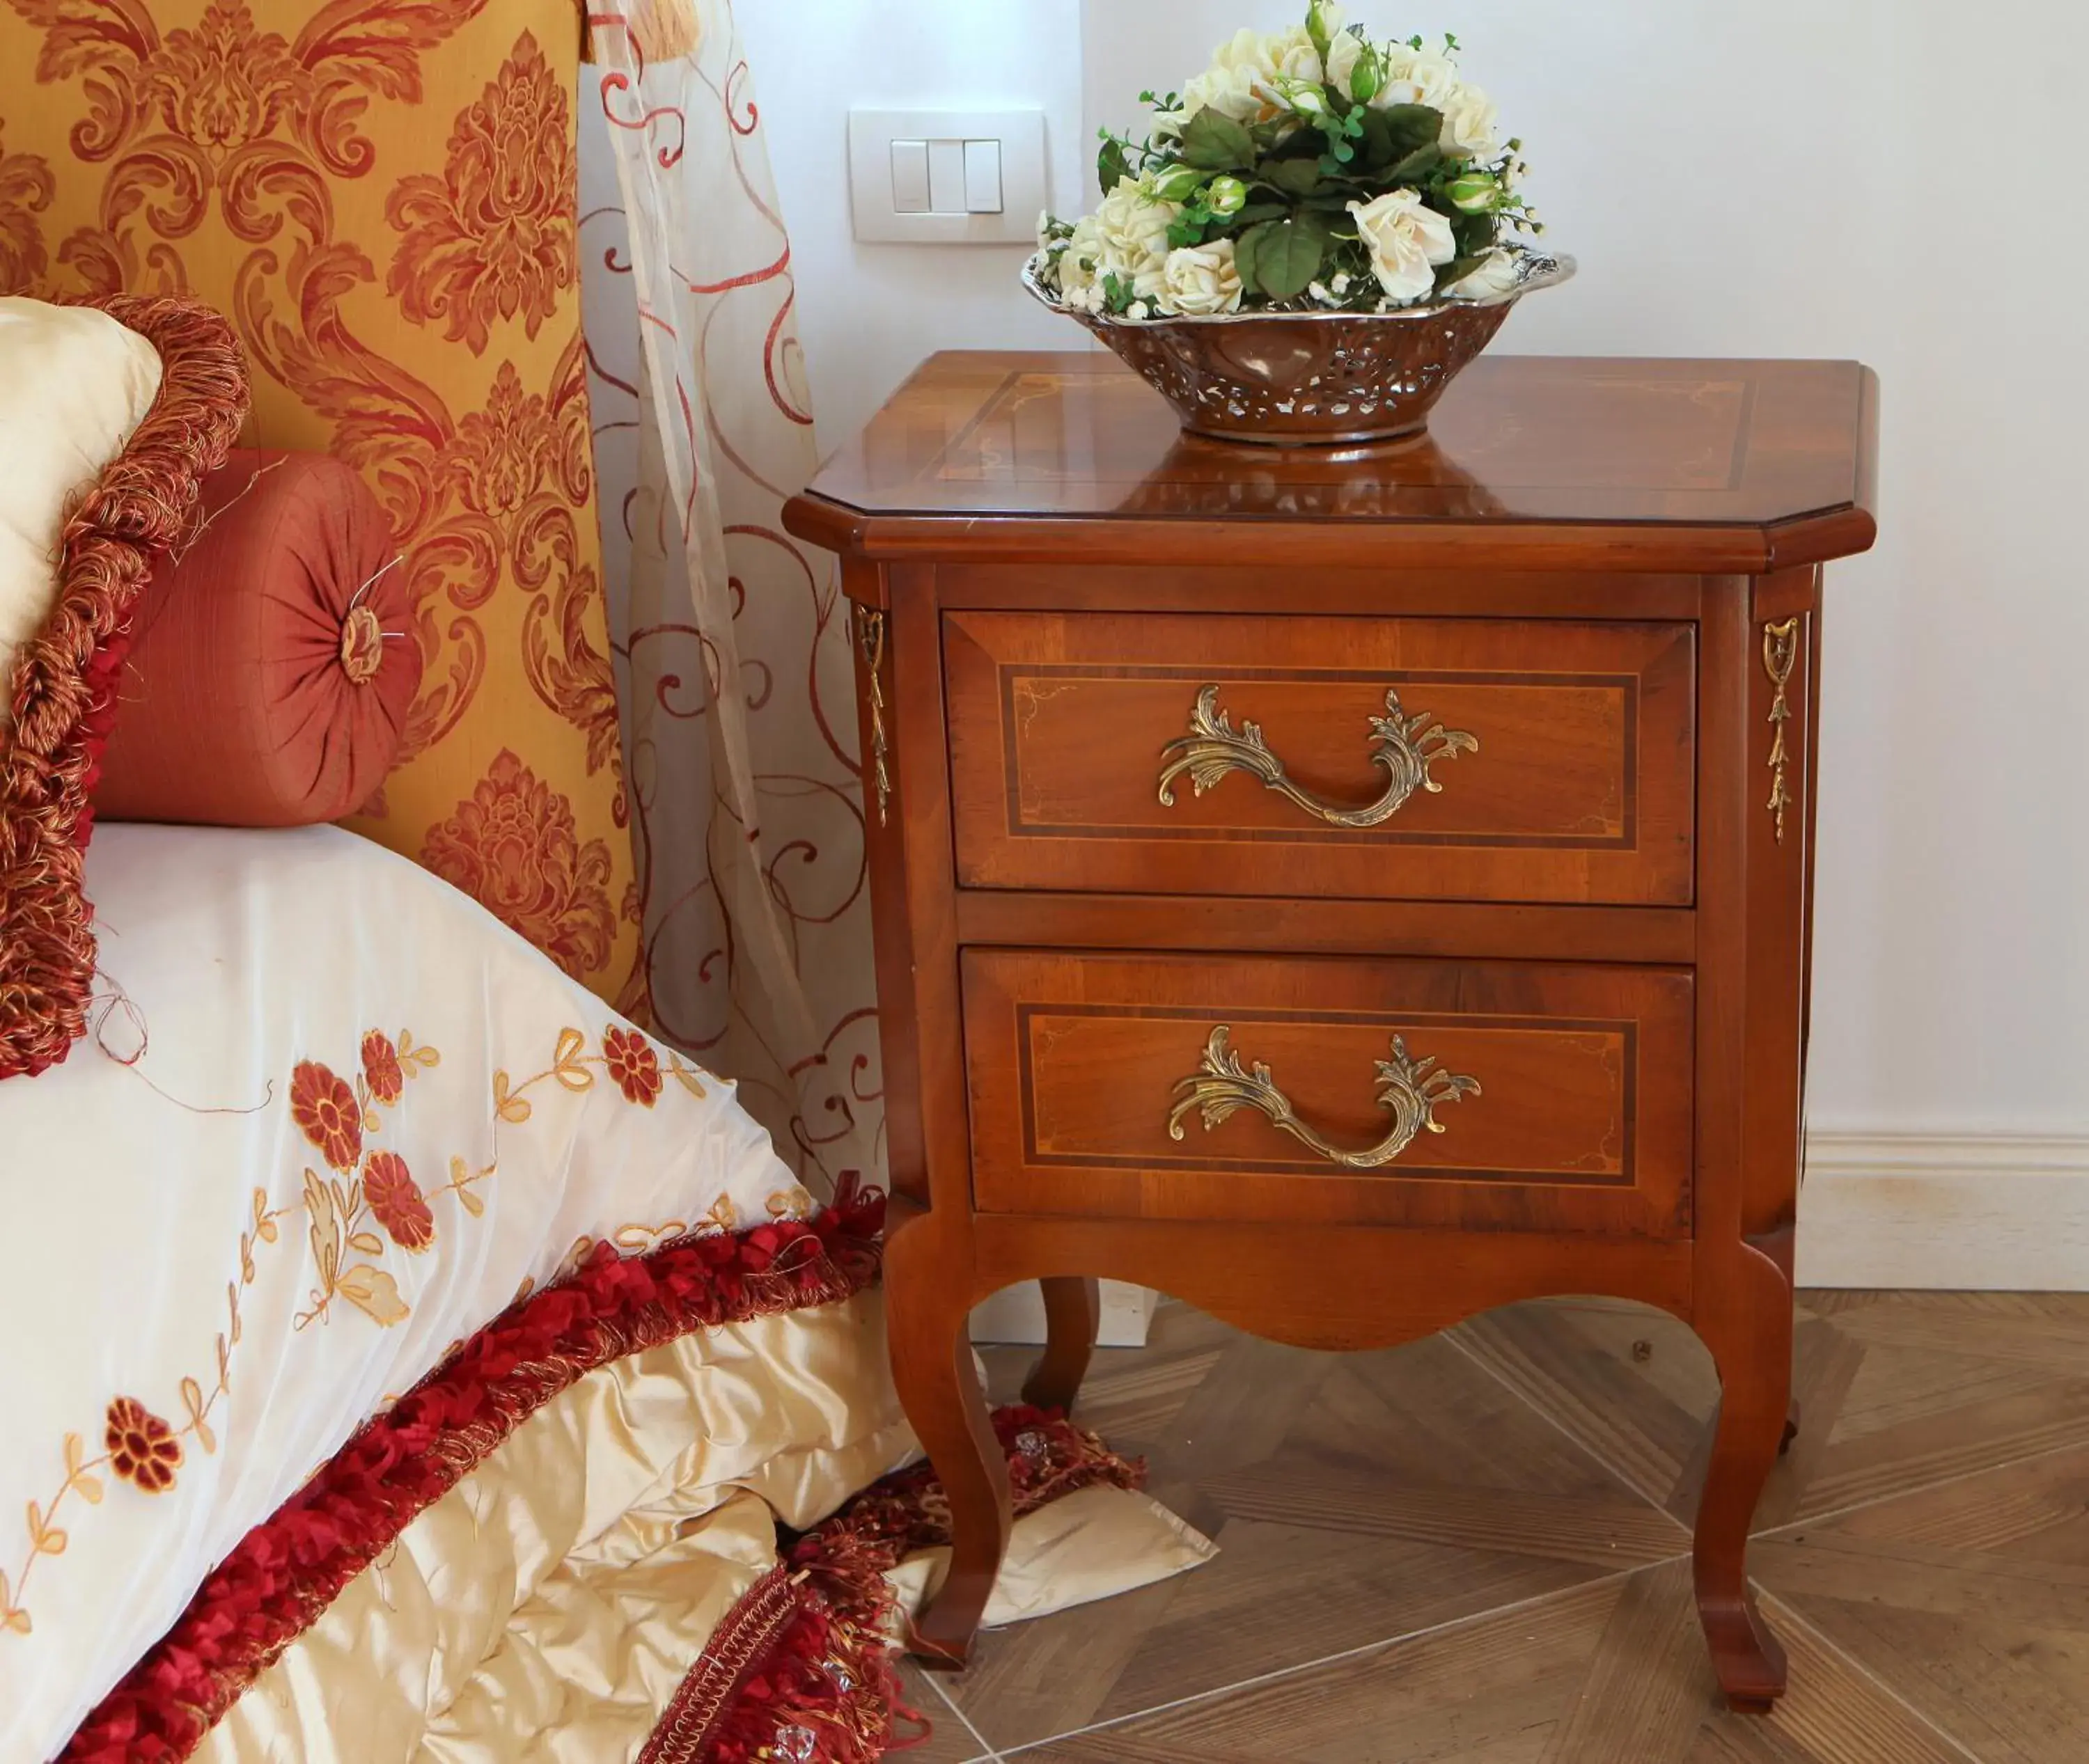
[[[209,307],[94,305],[0,301],[0,1079],[86,1027],[81,852],[132,603],[247,415],[247,365]]]

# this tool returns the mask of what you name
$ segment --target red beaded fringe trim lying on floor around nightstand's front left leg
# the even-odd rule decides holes
[[[1145,1463],[1042,1409],[1001,1409],[994,1434],[1017,1516],[1099,1482],[1145,1486]],[[928,1463],[871,1484],[727,1614],[639,1764],[875,1764],[919,1745],[930,1729],[905,1701],[886,1572],[948,1541]],[[898,1745],[896,1722],[915,1726]]]

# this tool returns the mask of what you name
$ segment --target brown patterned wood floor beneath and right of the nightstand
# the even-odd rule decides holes
[[[1792,1691],[1751,1720],[1690,1603],[1717,1386],[1680,1324],[1563,1301],[1312,1355],[1166,1305],[1080,1415],[1222,1555],[911,1676],[911,1756],[2089,1764],[2089,1296],[1803,1294],[1799,1394],[1751,1551]]]

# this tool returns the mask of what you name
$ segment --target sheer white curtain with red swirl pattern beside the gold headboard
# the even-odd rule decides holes
[[[589,19],[581,248],[643,939],[625,1006],[742,1083],[815,1192],[884,1173],[856,699],[754,79],[729,0],[687,54]],[[687,33],[683,35],[687,42]]]

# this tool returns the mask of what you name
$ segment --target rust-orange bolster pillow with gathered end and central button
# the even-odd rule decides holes
[[[96,816],[309,827],[368,804],[420,689],[397,559],[347,466],[232,453],[138,599]]]

